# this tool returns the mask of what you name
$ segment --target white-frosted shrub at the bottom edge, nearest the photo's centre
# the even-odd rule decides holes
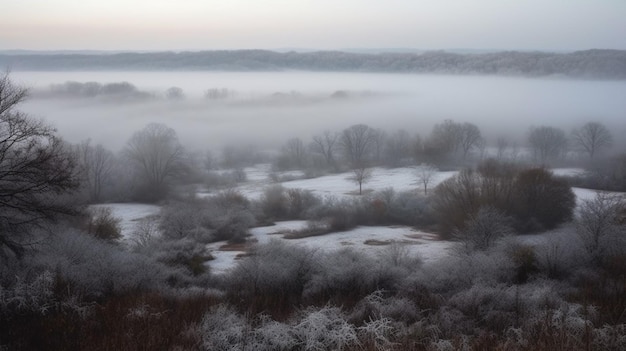
[[[359,343],[357,330],[337,307],[305,310],[293,332],[302,350],[342,350]]]

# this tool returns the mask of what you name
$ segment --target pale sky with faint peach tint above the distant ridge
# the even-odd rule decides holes
[[[626,49],[626,0],[2,0],[0,50]]]

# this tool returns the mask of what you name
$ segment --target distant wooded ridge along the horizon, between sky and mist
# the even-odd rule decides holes
[[[226,70],[341,71],[563,76],[626,79],[626,51],[355,53],[267,50],[153,53],[4,53],[0,67],[12,70]]]

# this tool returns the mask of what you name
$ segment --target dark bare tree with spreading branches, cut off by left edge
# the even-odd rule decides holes
[[[74,154],[55,130],[15,110],[26,96],[8,73],[0,77],[0,249],[17,256],[33,229],[73,212],[60,195],[79,183]]]

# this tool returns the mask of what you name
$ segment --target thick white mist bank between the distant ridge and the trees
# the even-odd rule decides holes
[[[22,109],[70,142],[113,150],[151,122],[172,127],[191,149],[249,144],[276,148],[293,137],[364,123],[422,136],[445,119],[476,124],[487,141],[523,144],[531,126],[570,131],[586,121],[626,132],[624,81],[328,72],[13,72],[31,89]],[[65,82],[128,82],[146,99],[57,96]],[[180,99],[167,99],[171,87]],[[207,99],[209,89],[231,95]]]

